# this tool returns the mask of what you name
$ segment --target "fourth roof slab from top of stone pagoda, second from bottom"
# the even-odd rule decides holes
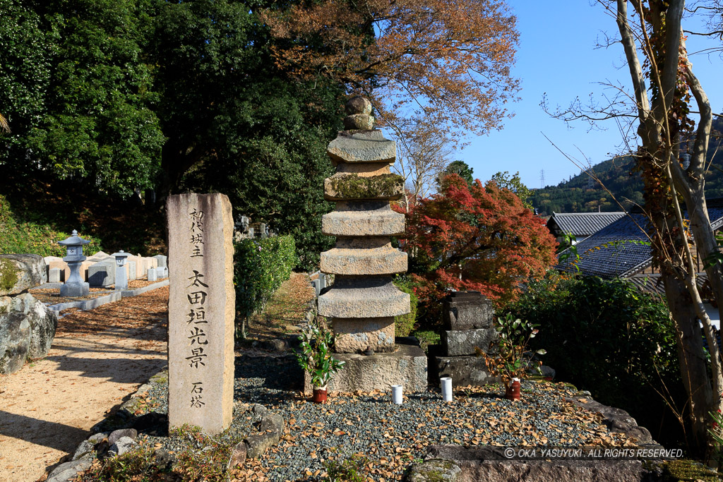
[[[333,248],[321,254],[320,270],[331,275],[393,275],[406,272],[407,254],[391,246]]]

